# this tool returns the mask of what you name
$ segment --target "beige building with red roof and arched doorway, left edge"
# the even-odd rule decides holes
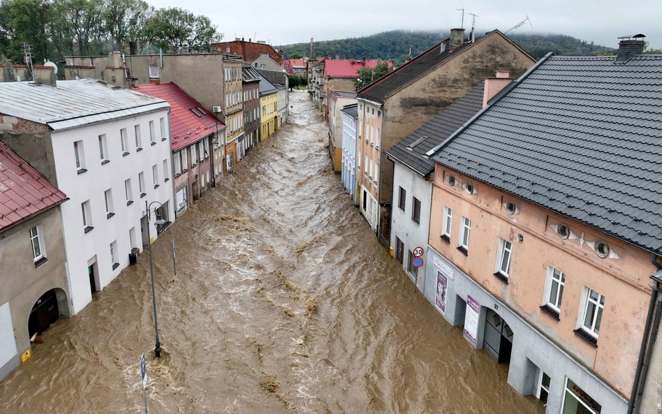
[[[0,126],[16,124],[5,115]],[[0,380],[71,315],[60,205],[66,195],[0,143]]]

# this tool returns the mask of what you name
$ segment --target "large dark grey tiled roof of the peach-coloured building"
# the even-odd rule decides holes
[[[662,252],[662,55],[549,57],[432,157]]]

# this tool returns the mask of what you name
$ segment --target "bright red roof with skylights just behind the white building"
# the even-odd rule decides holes
[[[191,98],[176,84],[141,84],[133,87],[138,92],[154,98],[161,98],[170,103],[170,135],[172,137],[172,151],[179,151],[184,147],[202,140],[209,134],[226,127],[209,111],[203,108],[198,101]],[[198,117],[191,112],[195,108],[203,116]]]

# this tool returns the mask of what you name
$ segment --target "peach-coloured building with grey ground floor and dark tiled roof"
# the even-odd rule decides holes
[[[647,96],[662,56],[635,45],[548,54],[427,153],[425,296],[546,413],[630,413],[645,381],[662,269],[662,93]]]

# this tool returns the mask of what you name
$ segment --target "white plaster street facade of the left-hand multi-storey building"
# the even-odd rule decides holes
[[[161,140],[159,119],[165,118],[165,140]],[[149,121],[154,121],[156,144],[151,145]],[[134,126],[140,124],[142,151],[136,151]],[[128,133],[129,154],[122,156],[120,129]],[[101,164],[98,135],[105,134],[110,163]],[[73,142],[82,140],[87,172],[78,174],[75,167]],[[172,186],[172,152],[170,150],[170,124],[168,111],[108,121],[53,133],[53,154],[59,188],[68,198],[62,205],[64,242],[67,256],[68,278],[71,286],[71,308],[80,311],[91,301],[88,260],[96,256],[99,288],[103,288],[128,265],[131,252],[129,229],[135,228],[135,244],[142,250],[140,219],[145,215],[145,200],[168,203],[168,220],[175,220],[175,196]],[[168,182],[164,181],[163,160],[168,160]],[[152,165],[158,168],[159,187],[152,184]],[[138,174],[145,172],[145,195],[140,198]],[[126,205],[124,180],[131,178],[133,204]],[[104,191],[112,188],[115,216],[106,217]],[[89,200],[93,230],[85,233],[82,222],[82,202]],[[152,207],[158,207],[154,205]],[[151,235],[156,239],[154,215]],[[112,269],[110,243],[117,240],[119,267]],[[157,275],[158,276],[158,275]]]

